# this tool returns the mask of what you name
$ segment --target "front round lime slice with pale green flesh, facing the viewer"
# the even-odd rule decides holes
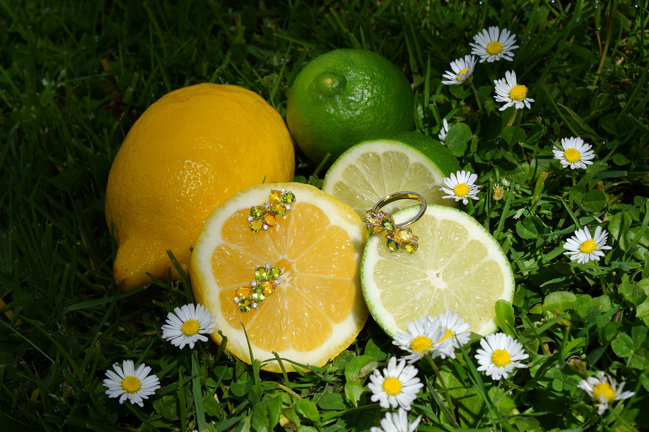
[[[393,217],[404,222],[418,210],[411,206]],[[493,333],[496,301],[511,302],[514,275],[491,234],[467,213],[435,205],[411,229],[419,237],[413,254],[390,253],[385,233],[365,245],[361,285],[376,322],[394,337],[409,321],[451,309],[471,331]]]

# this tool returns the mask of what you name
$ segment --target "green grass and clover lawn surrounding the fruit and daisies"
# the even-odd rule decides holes
[[[160,325],[169,307],[191,298],[189,287],[119,293],[103,213],[121,141],[165,93],[228,82],[257,91],[284,115],[288,87],[306,62],[356,47],[404,70],[417,91],[421,132],[437,136],[442,117],[471,128],[468,142],[449,145],[484,185],[467,211],[512,263],[515,298],[499,305],[499,317],[532,365],[494,383],[472,368],[473,343],[468,357],[438,361],[452,387],[442,390],[420,364],[431,387],[413,407],[425,417],[419,430],[454,423],[484,431],[646,430],[647,2],[618,0],[610,20],[602,2],[441,3],[0,1],[0,429],[188,431],[206,423],[210,431],[267,432],[280,410],[299,432],[376,426],[383,414],[357,385],[365,378],[348,384],[367,363],[398,355],[371,320],[340,357],[288,379],[257,374],[212,342],[197,355],[179,351],[160,339]],[[513,64],[476,68],[480,113],[469,89],[440,82],[448,62],[489,25],[511,29],[520,48]],[[493,79],[510,69],[535,99],[520,129],[507,126],[513,110],[499,112],[493,102]],[[574,179],[552,160],[553,141],[567,136],[581,136],[597,155]],[[314,169],[302,163],[296,175],[321,184]],[[515,187],[497,201],[491,187],[502,178]],[[586,225],[609,230],[613,250],[576,265],[561,245]],[[576,387],[581,373],[567,363],[576,357],[637,395],[594,415]],[[101,386],[104,370],[125,358],[151,365],[162,381],[142,409],[109,400]],[[446,391],[454,419],[435,402]]]

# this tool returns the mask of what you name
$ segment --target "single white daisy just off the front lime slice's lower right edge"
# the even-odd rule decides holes
[[[530,357],[523,352],[523,346],[505,333],[495,333],[480,339],[482,350],[476,351],[476,360],[480,363],[478,370],[485,370],[491,379],[497,381],[507,378],[514,368],[527,367],[520,363]]]

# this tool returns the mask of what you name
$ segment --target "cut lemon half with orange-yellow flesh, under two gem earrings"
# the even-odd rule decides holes
[[[297,201],[275,226],[252,232],[251,206],[269,201],[271,189],[293,192]],[[251,362],[280,357],[323,366],[356,338],[367,320],[360,288],[360,260],[367,232],[354,211],[316,187],[260,184],[232,195],[207,218],[191,256],[196,301],[210,307],[218,324],[212,339]],[[282,270],[274,293],[243,313],[236,289],[250,287],[255,270],[268,263]],[[286,370],[293,366],[284,362]],[[263,369],[280,372],[275,360]]]

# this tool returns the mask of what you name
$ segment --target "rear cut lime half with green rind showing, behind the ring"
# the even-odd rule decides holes
[[[361,217],[380,198],[397,191],[415,191],[431,204],[456,206],[442,198],[443,178],[459,170],[456,158],[434,139],[404,132],[364,141],[340,156],[324,177],[323,191],[349,205]],[[384,211],[411,206],[411,200],[388,204]]]

